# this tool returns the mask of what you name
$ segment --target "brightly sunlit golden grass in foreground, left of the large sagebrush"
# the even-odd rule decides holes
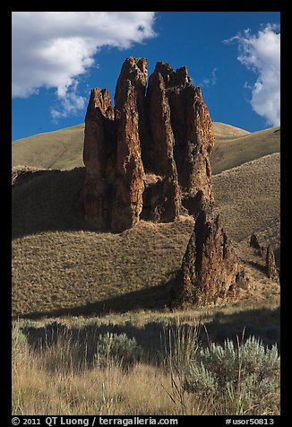
[[[53,350],[59,352],[59,348]],[[171,379],[159,367],[137,363],[124,371],[118,365],[106,370],[47,369],[53,353],[30,352],[13,370],[13,414],[180,414],[166,390]],[[189,414],[193,396],[185,396]]]

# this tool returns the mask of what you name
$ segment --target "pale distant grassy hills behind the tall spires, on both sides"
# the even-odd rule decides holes
[[[215,122],[214,131],[213,174],[279,152],[278,127],[250,134],[238,127]],[[82,124],[14,141],[13,166],[57,170],[82,167],[83,134]]]

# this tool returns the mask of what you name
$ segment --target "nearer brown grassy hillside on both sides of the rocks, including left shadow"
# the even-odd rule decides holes
[[[193,218],[141,222],[120,234],[92,231],[82,220],[83,179],[84,168],[45,170],[13,186],[13,314],[167,303],[167,282],[181,264]],[[222,172],[213,185],[233,240],[279,219],[278,153]]]

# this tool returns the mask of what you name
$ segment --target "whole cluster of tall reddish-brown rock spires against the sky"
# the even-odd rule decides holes
[[[147,86],[147,61],[129,57],[116,83],[91,91],[85,118],[82,191],[85,219],[123,231],[140,218],[176,221],[213,204],[209,111],[186,67],[159,62]]]

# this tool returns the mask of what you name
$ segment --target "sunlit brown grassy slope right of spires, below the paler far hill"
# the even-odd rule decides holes
[[[213,177],[213,186],[231,239],[243,240],[279,220],[279,153],[225,170]]]

